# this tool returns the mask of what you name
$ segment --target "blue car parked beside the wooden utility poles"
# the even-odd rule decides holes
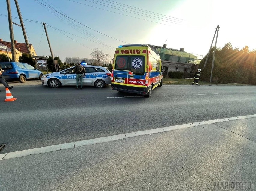
[[[21,62],[0,62],[0,67],[5,72],[2,73],[3,77],[8,79],[15,79],[24,83],[26,79],[38,78],[41,79],[43,73],[33,66]]]

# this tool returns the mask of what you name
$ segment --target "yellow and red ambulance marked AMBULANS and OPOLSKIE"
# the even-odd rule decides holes
[[[120,45],[112,67],[112,89],[150,97],[163,84],[162,63],[147,44]]]

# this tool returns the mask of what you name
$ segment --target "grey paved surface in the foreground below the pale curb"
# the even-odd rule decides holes
[[[4,159],[0,190],[253,191],[255,127],[240,119]]]

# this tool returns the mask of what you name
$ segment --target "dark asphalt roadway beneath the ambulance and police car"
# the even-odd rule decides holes
[[[14,84],[15,86],[15,84]],[[1,87],[0,100],[5,99]],[[256,86],[162,86],[151,98],[103,89],[19,84],[0,102],[6,153],[121,133],[256,113]],[[213,95],[197,95],[219,93]]]

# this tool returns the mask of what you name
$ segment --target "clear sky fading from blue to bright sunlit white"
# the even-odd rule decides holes
[[[17,17],[14,0],[10,2],[12,16]],[[49,25],[47,32],[53,54],[63,62],[65,57],[91,58],[94,48],[109,54],[110,61],[115,48],[127,43],[157,46],[166,43],[168,48],[184,48],[186,52],[205,56],[217,25],[220,25],[217,47],[230,42],[233,48],[247,45],[250,50],[256,49],[253,0],[18,0],[18,3],[23,19],[36,21],[24,24],[37,55],[50,55],[40,23],[45,22]],[[0,0],[0,7],[0,38],[10,41],[5,0]],[[13,22],[19,24],[18,19]],[[17,25],[13,28],[14,39],[24,43],[21,28]]]

